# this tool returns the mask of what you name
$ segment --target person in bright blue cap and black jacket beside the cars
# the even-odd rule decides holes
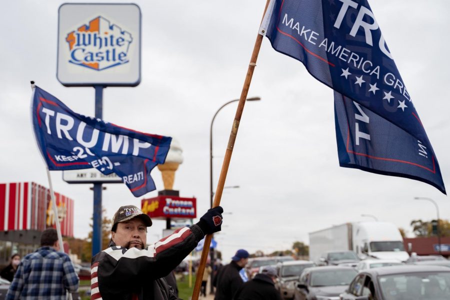
[[[235,293],[243,284],[239,271],[247,264],[248,256],[247,250],[239,249],[231,257],[231,262],[220,268],[213,280],[216,288],[214,300],[234,299]]]

